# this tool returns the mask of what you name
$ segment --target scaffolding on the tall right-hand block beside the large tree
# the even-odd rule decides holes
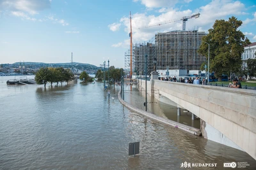
[[[157,69],[200,70],[206,57],[197,51],[205,32],[171,31],[156,34]]]

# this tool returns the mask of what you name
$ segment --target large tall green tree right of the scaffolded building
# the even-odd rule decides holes
[[[249,39],[244,38],[243,32],[238,30],[242,24],[243,22],[236,17],[231,17],[227,21],[216,20],[213,28],[209,29],[209,34],[202,38],[205,43],[200,45],[198,52],[208,56],[209,43],[209,71],[214,71],[217,77],[241,69],[244,46],[250,44]]]

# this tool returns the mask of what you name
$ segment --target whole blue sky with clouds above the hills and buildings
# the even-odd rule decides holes
[[[0,63],[74,62],[124,67],[129,50],[129,12],[133,43],[159,31],[208,31],[215,20],[237,17],[241,31],[256,41],[255,0],[0,0]],[[145,29],[145,25],[175,20]]]

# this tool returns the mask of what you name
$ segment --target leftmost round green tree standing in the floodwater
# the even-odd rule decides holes
[[[40,68],[35,76],[35,81],[38,85],[46,85],[46,83],[51,79],[51,71],[45,67]]]

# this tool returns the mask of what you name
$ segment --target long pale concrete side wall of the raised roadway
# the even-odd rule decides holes
[[[202,118],[256,159],[256,92],[171,81],[154,81],[166,96]]]

